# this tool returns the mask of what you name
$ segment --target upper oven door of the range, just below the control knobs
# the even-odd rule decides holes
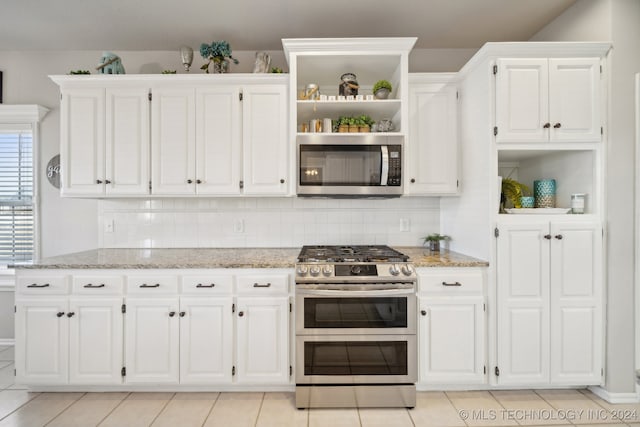
[[[296,288],[297,335],[416,333],[413,289]]]

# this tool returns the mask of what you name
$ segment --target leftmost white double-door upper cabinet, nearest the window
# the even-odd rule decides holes
[[[63,196],[148,194],[148,93],[146,87],[63,86]]]

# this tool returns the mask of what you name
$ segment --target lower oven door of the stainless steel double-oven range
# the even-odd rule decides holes
[[[297,384],[413,384],[415,335],[296,336]]]

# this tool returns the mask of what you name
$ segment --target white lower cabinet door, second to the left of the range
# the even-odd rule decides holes
[[[232,297],[180,298],[180,383],[230,384]]]

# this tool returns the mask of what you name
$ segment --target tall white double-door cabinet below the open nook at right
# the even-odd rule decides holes
[[[498,229],[498,383],[600,384],[600,222],[510,220]]]

